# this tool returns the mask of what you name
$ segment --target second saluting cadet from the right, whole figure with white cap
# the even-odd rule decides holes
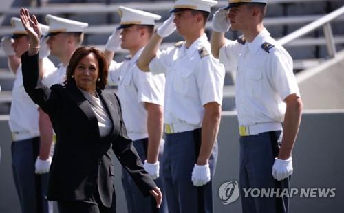
[[[204,27],[217,1],[178,0],[138,59],[142,71],[166,75],[162,161],[169,212],[213,212],[224,68],[210,54]],[[175,29],[185,41],[160,54]]]

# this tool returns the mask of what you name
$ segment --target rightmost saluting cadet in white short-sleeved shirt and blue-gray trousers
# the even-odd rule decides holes
[[[266,1],[230,0],[213,16],[211,49],[236,70],[235,102],[240,133],[240,188],[243,212],[288,212],[287,197],[244,197],[243,189],[289,187],[292,147],[302,102],[292,58],[264,28]],[[231,25],[231,27],[230,27]],[[231,30],[244,35],[224,38]],[[282,126],[283,122],[283,126]]]

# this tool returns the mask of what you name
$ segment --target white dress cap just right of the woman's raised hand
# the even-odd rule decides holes
[[[45,16],[45,21],[49,24],[48,35],[56,32],[83,32],[83,28],[88,26],[85,22],[63,19],[50,14]]]

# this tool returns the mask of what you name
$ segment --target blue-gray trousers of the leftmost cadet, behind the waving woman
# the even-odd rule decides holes
[[[52,212],[47,201],[48,173],[36,175],[34,163],[39,155],[39,137],[12,142],[12,171],[22,213]]]

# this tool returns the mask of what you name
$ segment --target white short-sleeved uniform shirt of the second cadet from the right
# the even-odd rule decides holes
[[[185,43],[180,47],[170,47],[157,54],[149,63],[149,69],[153,73],[164,72],[166,75],[166,124],[188,124],[193,129],[200,128],[204,104],[222,104],[224,67],[211,54],[201,56],[202,48],[208,53],[211,52],[206,34],[193,42],[189,49],[186,49]]]

